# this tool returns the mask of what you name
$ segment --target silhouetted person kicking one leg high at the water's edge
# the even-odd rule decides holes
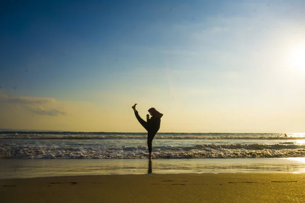
[[[163,116],[162,113],[157,111],[155,108],[149,108],[148,112],[151,115],[151,118],[149,119],[149,114],[146,115],[146,121],[141,119],[138,111],[136,110],[136,105],[132,106],[132,109],[135,111],[135,115],[139,123],[147,130],[147,146],[148,146],[148,152],[149,152],[149,159],[151,159],[151,150],[153,145],[153,139],[155,135],[157,134],[158,130],[160,129],[160,123],[161,123],[161,117]]]

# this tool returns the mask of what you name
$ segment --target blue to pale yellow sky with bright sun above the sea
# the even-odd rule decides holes
[[[0,128],[139,132],[136,102],[163,132],[305,130],[303,1],[2,4]]]

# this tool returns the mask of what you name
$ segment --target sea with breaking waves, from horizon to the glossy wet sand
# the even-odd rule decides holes
[[[158,133],[154,159],[305,157],[305,133]],[[2,132],[0,158],[146,159],[146,133]]]

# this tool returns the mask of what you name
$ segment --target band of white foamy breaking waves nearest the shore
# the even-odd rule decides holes
[[[89,158],[89,159],[142,159],[147,147],[143,146],[56,146],[0,143],[0,158]],[[305,157],[305,145],[297,144],[198,144],[193,147],[156,147],[153,155],[161,159],[181,158],[276,158]]]

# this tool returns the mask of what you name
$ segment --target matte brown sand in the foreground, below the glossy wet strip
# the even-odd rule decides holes
[[[305,202],[305,174],[220,173],[0,180],[0,202]]]

